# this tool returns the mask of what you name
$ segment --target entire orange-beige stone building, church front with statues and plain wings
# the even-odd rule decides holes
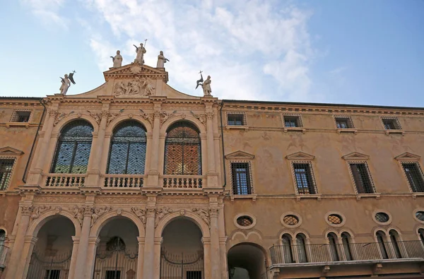
[[[0,97],[0,278],[422,278],[423,108],[219,100],[167,75]]]

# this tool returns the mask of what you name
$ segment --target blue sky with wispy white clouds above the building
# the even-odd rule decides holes
[[[120,49],[160,50],[173,88],[199,70],[225,99],[424,107],[424,1],[3,1],[1,96],[69,95],[104,82]]]

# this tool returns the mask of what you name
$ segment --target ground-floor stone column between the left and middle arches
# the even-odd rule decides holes
[[[88,237],[90,236],[91,215],[93,214],[92,206],[85,206],[83,227],[81,228],[80,244],[78,245],[78,254],[76,256],[76,269],[74,278],[88,278],[85,277],[87,266],[87,253],[88,253]]]

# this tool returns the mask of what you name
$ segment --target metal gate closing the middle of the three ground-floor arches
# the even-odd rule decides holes
[[[136,279],[138,254],[125,251],[119,237],[107,251],[95,255],[93,279]]]

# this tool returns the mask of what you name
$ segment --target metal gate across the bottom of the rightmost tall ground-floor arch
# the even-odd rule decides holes
[[[160,279],[204,279],[204,254],[160,251]]]

